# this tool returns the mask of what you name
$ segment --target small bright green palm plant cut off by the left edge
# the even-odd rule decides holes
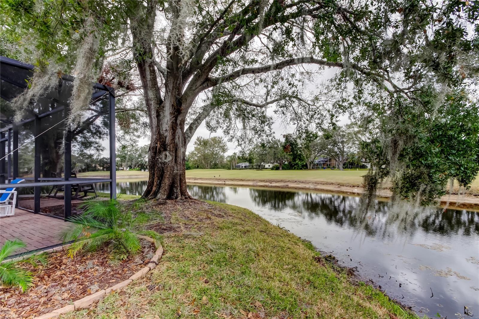
[[[3,260],[12,255],[15,251],[21,248],[25,248],[26,245],[23,241],[6,240],[5,244],[0,249],[0,282],[5,286],[18,285],[22,292],[26,291],[28,287],[33,285],[32,273],[18,265],[19,262],[28,262],[34,266],[38,263],[46,263],[46,257],[44,254],[33,256],[27,259],[21,259],[21,256],[7,262]]]

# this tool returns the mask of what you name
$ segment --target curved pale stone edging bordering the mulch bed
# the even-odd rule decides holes
[[[96,301],[102,300],[104,296],[111,294],[114,291],[118,291],[127,285],[131,284],[134,280],[138,280],[145,276],[149,271],[153,270],[158,265],[158,262],[160,262],[161,256],[163,255],[163,246],[161,246],[160,242],[158,240],[146,237],[146,236],[138,236],[140,239],[145,239],[148,240],[149,242],[152,242],[155,245],[156,251],[153,257],[150,258],[150,261],[148,262],[148,265],[141,268],[138,270],[136,273],[132,274],[130,278],[122,281],[121,283],[118,283],[116,285],[113,285],[111,287],[108,287],[106,289],[102,289],[100,291],[97,291],[91,295],[85,296],[81,299],[73,301],[73,304],[64,306],[62,308],[58,308],[55,310],[52,310],[50,312],[47,312],[46,314],[43,314],[39,317],[35,317],[35,319],[50,319],[50,318],[57,318],[60,315],[66,314],[67,312],[81,309],[81,308],[86,308],[91,306]],[[52,251],[61,251],[63,249],[66,249],[68,245],[61,246],[61,249],[57,248],[43,251],[43,252],[52,252]]]

